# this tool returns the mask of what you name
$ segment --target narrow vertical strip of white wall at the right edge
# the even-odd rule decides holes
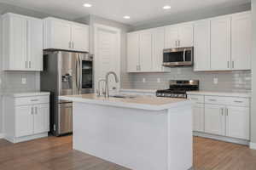
[[[253,11],[253,60],[252,60],[252,106],[251,106],[251,142],[256,143],[256,0],[252,0]]]

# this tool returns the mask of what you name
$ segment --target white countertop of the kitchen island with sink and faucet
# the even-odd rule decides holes
[[[59,99],[69,100],[79,103],[109,105],[115,107],[125,107],[132,109],[142,109],[149,111],[161,111],[175,106],[185,105],[188,99],[160,98],[155,96],[137,95],[135,98],[114,98],[99,97],[96,94],[80,94],[60,96]]]

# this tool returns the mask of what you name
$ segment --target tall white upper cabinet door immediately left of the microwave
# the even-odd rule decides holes
[[[152,31],[152,48],[152,71],[163,71],[165,28],[156,28]]]

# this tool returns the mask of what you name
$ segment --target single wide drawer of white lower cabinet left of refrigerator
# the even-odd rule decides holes
[[[49,96],[15,98],[15,105],[36,105],[49,103]]]

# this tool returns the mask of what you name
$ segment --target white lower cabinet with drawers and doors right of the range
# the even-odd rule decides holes
[[[189,95],[193,102],[193,131],[249,140],[250,99]]]

